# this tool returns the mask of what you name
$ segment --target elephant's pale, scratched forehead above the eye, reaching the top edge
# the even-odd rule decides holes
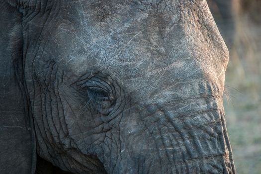
[[[64,3],[52,30],[50,52],[57,55],[59,66],[69,76],[102,72],[128,92],[140,88],[151,93],[185,81],[222,79],[224,65],[214,60],[220,55],[205,46],[207,36],[199,28],[203,24],[192,19],[192,24],[179,21],[178,1],[169,2],[168,8],[163,5],[167,1],[158,3],[157,10],[151,5],[147,9],[146,1],[113,2]],[[97,19],[104,13],[97,11],[104,8],[117,10]]]

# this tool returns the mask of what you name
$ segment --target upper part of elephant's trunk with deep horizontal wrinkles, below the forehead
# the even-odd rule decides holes
[[[133,115],[122,123],[120,139],[128,143],[120,144],[117,162],[107,171],[235,173],[222,100],[222,96],[201,95],[136,108],[142,123],[131,121]]]

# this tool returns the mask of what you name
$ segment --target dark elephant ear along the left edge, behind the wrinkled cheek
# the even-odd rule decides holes
[[[34,174],[35,137],[23,76],[21,14],[0,2],[0,174]]]

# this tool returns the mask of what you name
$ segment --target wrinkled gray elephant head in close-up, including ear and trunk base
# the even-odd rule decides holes
[[[235,173],[205,0],[0,8],[1,174],[33,174],[36,151],[74,174]]]

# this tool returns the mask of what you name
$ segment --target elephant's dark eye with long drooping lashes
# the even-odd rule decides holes
[[[87,95],[87,105],[92,112],[108,114],[114,103],[109,91],[100,87],[88,87]]]

